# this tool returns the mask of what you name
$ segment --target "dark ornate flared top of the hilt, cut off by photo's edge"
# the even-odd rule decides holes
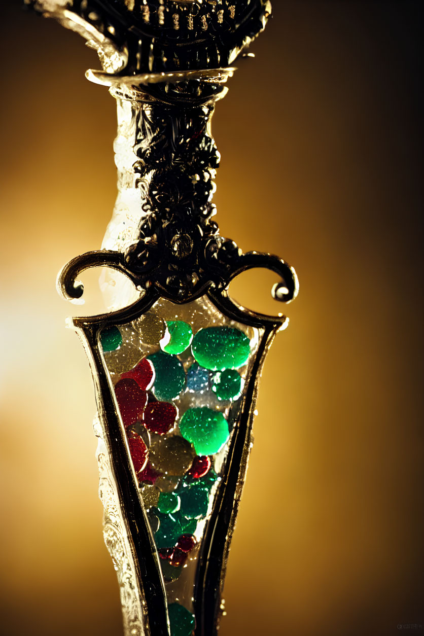
[[[268,0],[24,0],[79,32],[120,75],[232,64],[270,17]]]

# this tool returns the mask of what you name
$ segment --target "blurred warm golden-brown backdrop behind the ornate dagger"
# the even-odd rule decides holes
[[[423,3],[274,5],[217,107],[216,202],[301,292],[263,374],[220,634],[394,635],[424,626]],[[55,291],[111,215],[114,100],[78,36],[1,9],[0,631],[118,636],[92,382]],[[236,296],[281,310],[273,276],[247,279]]]

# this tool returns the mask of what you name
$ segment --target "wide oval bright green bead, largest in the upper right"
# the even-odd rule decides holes
[[[250,340],[240,329],[207,327],[196,333],[191,351],[196,362],[206,369],[238,369],[249,358]]]

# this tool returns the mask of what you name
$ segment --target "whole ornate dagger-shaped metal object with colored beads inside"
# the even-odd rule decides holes
[[[257,385],[284,316],[231,300],[249,268],[279,277],[277,256],[243,254],[212,219],[219,153],[211,134],[229,65],[270,15],[266,0],[30,0],[97,49],[118,103],[118,198],[103,249],[58,278],[78,299],[106,266],[111,312],[74,318],[96,387],[104,537],[127,636],[212,636],[251,443]],[[114,277],[126,275],[127,284]],[[125,308],[116,310],[118,305]]]

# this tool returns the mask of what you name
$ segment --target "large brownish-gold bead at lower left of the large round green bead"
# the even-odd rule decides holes
[[[193,464],[194,457],[193,446],[177,435],[160,438],[150,448],[151,465],[155,470],[168,475],[186,473]]]

